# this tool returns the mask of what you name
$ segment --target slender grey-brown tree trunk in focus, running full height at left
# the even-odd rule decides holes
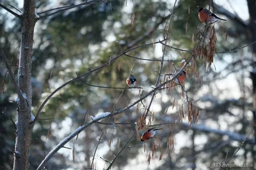
[[[33,54],[33,34],[36,23],[35,0],[24,0],[21,18],[22,35],[20,43],[18,85],[25,100],[20,99],[17,109],[17,132],[13,169],[29,169],[29,149],[31,145],[31,58]]]

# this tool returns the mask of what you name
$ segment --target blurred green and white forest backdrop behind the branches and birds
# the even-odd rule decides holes
[[[161,123],[164,128],[156,137],[163,144],[163,158],[159,160],[161,150],[157,149],[154,158],[148,164],[152,142],[125,149],[116,159],[113,169],[205,169],[206,162],[223,162],[227,155],[230,158],[237,146],[246,137],[248,139],[230,162],[235,164],[252,164],[256,168],[255,121],[253,117],[253,82],[250,75],[255,76],[256,45],[256,4],[253,0],[213,1],[211,11],[227,21],[214,24],[217,36],[217,53],[214,64],[205,68],[202,59],[196,60],[198,75],[185,70],[186,91],[188,97],[195,101],[200,110],[198,121],[189,126],[188,120],[175,123],[184,99],[181,89],[157,91],[150,107],[154,113],[152,124]],[[21,7],[19,1],[2,1],[5,6],[12,4]],[[36,1],[39,12],[53,7],[79,4],[81,1]],[[111,0],[93,6],[79,6],[36,23],[33,46],[33,72],[31,84],[33,88],[33,114],[44,102],[45,98],[78,74],[86,73],[103,65],[127,49],[157,42],[166,33],[164,27],[170,17],[174,1],[164,0]],[[198,20],[198,7],[207,7],[209,1],[179,0],[174,8],[171,39],[168,45],[179,49],[192,50],[198,29],[204,23]],[[238,6],[238,7],[237,7]],[[237,9],[240,11],[238,12]],[[1,47],[17,75],[20,45],[20,21],[10,13],[0,9],[0,43]],[[133,22],[132,22],[133,20]],[[227,40],[226,39],[227,36]],[[248,45],[249,44],[249,45]],[[251,44],[251,45],[250,45]],[[238,49],[239,47],[244,47]],[[234,50],[238,49],[238,50]],[[228,50],[234,50],[228,52]],[[226,52],[225,52],[226,51]],[[220,52],[220,53],[218,53]],[[161,59],[162,45],[150,45],[132,50],[130,56],[144,59]],[[175,60],[164,62],[163,73],[170,73],[170,65],[180,68],[180,61],[188,59],[191,54],[186,51],[166,47],[164,59]],[[134,62],[136,61],[135,65]],[[0,58],[0,169],[12,169],[13,150],[15,146],[17,94],[13,88],[6,66]],[[124,87],[125,79],[132,70],[144,93],[150,91],[155,84],[159,61],[145,61],[122,56],[111,65],[102,68],[83,78],[88,84]],[[250,74],[250,72],[252,72]],[[164,76],[160,77],[160,82]],[[138,100],[140,89],[125,89],[115,110],[122,109]],[[45,155],[58,144],[61,139],[76,130],[83,123],[88,109],[88,116],[100,112],[111,112],[122,89],[104,89],[88,86],[81,81],[72,82],[56,93],[45,105],[40,121],[33,129],[31,141],[31,169],[36,169]],[[148,105],[150,98],[143,100]],[[174,107],[173,107],[174,105]],[[109,163],[124,146],[134,132],[134,122],[138,120],[145,108],[140,103],[115,118],[111,122],[121,124],[94,124],[86,128],[78,137],[72,139],[67,146],[73,148],[76,143],[75,159],[72,150],[62,148],[45,166],[50,169],[86,169],[92,164],[92,157],[100,134],[104,135],[99,142],[95,154],[96,169],[108,167]],[[90,121],[90,117],[88,118]],[[102,123],[106,120],[102,120]],[[123,124],[122,124],[123,123]],[[172,124],[170,124],[172,123]],[[46,138],[51,128],[51,136]],[[168,137],[174,137],[173,150],[166,150]],[[142,134],[142,131],[140,132]],[[140,143],[140,136],[134,137],[129,146]],[[120,147],[118,147],[120,146]],[[241,169],[233,167],[232,169]]]

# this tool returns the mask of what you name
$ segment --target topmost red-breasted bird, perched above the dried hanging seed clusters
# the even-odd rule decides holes
[[[207,21],[207,17],[208,17],[208,13],[209,13],[209,19],[208,22],[209,23],[214,23],[217,20],[225,20],[225,19],[221,19],[220,17],[217,17],[214,13],[209,12],[207,9],[205,8],[200,8],[198,11],[198,18],[201,22],[205,22]]]

